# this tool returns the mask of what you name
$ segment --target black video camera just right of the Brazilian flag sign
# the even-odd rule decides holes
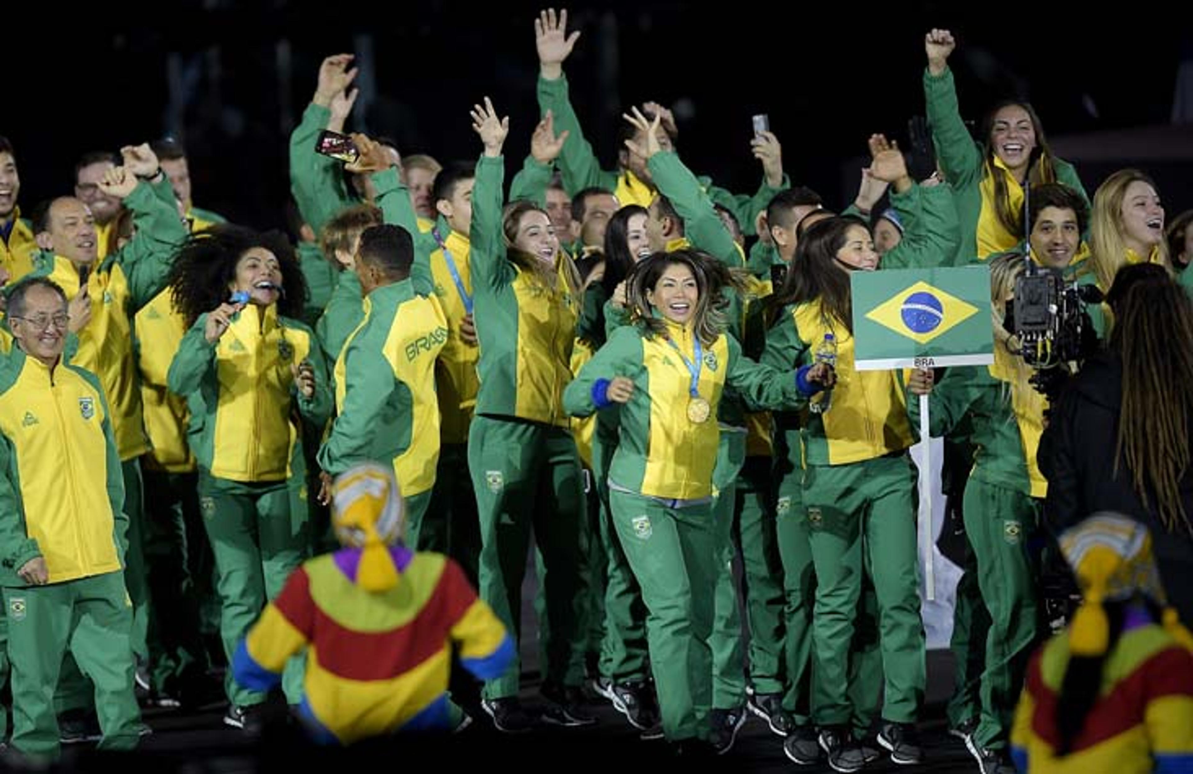
[[[1098,348],[1086,305],[1100,303],[1095,285],[1065,280],[1059,270],[1028,264],[1015,279],[1006,328],[1019,341],[1019,357],[1036,370],[1032,385],[1050,402],[1065,379]]]

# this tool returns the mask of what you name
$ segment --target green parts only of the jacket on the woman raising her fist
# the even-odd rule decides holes
[[[962,120],[952,70],[945,68],[940,75],[933,75],[925,69],[923,99],[927,105],[928,124],[932,125],[932,140],[937,147],[937,159],[945,173],[945,180],[953,187],[957,202],[962,242],[953,265],[968,266],[985,260],[984,255],[978,254],[977,241],[982,208],[990,206],[982,197],[982,180],[988,174],[982,144],[973,141],[965,122]],[[1086,196],[1086,188],[1081,185],[1073,165],[1061,159],[1055,159],[1055,162],[1057,181],[1081,194],[1088,206],[1089,197]]]

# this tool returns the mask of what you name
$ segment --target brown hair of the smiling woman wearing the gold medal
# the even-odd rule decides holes
[[[647,291],[654,292],[663,272],[674,265],[687,266],[696,278],[699,298],[696,311],[692,312],[692,329],[701,342],[711,346],[725,329],[725,309],[729,304],[723,291],[735,287],[736,280],[724,264],[697,249],[655,253],[633,267],[625,286],[630,320],[654,335],[666,330],[663,318],[654,312],[654,306],[647,301]]]

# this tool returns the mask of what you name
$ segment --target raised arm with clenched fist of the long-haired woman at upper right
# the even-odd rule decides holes
[[[957,48],[948,30],[932,30],[925,36],[928,69],[923,74],[923,101],[932,126],[932,140],[945,180],[960,187],[982,177],[982,153],[962,120],[957,87],[948,69],[948,55]]]

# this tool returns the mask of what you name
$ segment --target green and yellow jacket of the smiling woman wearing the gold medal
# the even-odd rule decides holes
[[[674,343],[674,347],[673,347]],[[694,360],[694,339],[684,326],[667,322],[667,335],[639,326],[618,328],[563,392],[574,416],[613,408],[601,400],[598,383],[614,377],[633,382],[629,403],[618,405],[620,433],[610,466],[610,485],[665,500],[703,500],[712,495],[712,470],[721,429],[715,417],[688,419],[691,372],[675,349]],[[698,392],[716,410],[727,388],[747,395],[759,408],[796,409],[806,398],[796,374],[759,365],[722,334],[703,347]]]

